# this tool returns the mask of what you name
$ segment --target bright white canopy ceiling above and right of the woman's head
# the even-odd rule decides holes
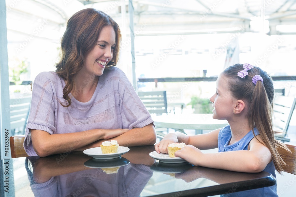
[[[79,1],[86,6],[110,12],[114,18],[121,17],[119,11],[122,1]],[[114,2],[117,2],[115,8],[110,9],[114,6]],[[271,30],[269,34],[284,33],[276,29],[277,25],[296,25],[295,0],[134,0],[132,2],[135,26],[147,25],[145,32],[142,32],[143,35],[145,33],[147,35],[149,31],[162,34],[174,34],[180,31],[192,34],[241,32],[242,29],[244,32],[256,32],[258,31],[256,25],[262,24],[262,18],[266,20],[264,23],[266,28]],[[127,5],[128,1],[125,3]]]

